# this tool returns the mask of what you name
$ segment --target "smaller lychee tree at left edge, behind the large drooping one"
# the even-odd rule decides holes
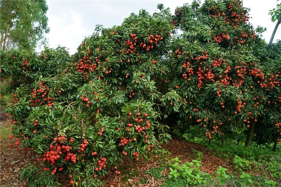
[[[56,75],[70,61],[65,47],[45,48],[39,55],[35,52],[13,49],[1,51],[0,81],[5,86],[1,94],[13,91],[21,84],[29,85],[42,77]],[[3,88],[3,87],[1,87]],[[3,93],[4,92],[4,93]]]

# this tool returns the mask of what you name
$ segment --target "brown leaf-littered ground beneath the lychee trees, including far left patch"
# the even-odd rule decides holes
[[[24,148],[19,148],[19,150],[16,150],[16,148],[14,147],[16,139],[9,139],[11,130],[8,120],[3,120],[3,118],[1,118],[0,128],[0,186],[28,186],[28,183],[26,183],[25,181],[19,181],[20,171],[25,164],[38,164],[36,162],[36,156],[32,151],[28,151]],[[9,148],[10,143],[13,144],[12,148]],[[217,158],[212,152],[207,151],[206,147],[196,143],[171,140],[168,144],[163,144],[162,148],[172,153],[169,158],[178,157],[183,162],[190,162],[195,159],[193,149],[202,152],[203,158],[201,159],[201,164],[203,166],[201,166],[200,169],[202,171],[205,171],[206,173],[215,173],[218,166],[227,168],[228,171],[233,171],[232,164],[230,164],[227,160]],[[167,178],[165,176],[167,176],[169,173],[168,167],[162,167],[167,165],[167,163],[167,157],[165,158],[161,156],[157,159],[140,159],[138,163],[125,160],[122,163],[121,168],[119,168],[122,171],[120,175],[116,175],[112,171],[109,171],[109,175],[107,177],[104,177],[103,181],[105,183],[105,186],[109,187],[133,185],[135,185],[135,187],[160,186]],[[159,168],[161,168],[161,171],[159,170]],[[163,178],[156,178],[154,176],[151,176],[149,173],[150,170],[155,170],[156,172],[159,171],[159,175],[163,176]],[[64,186],[70,186],[67,176],[59,175],[58,182],[60,181],[66,181]]]

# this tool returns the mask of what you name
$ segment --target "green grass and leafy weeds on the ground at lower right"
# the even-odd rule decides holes
[[[213,151],[214,148],[217,148],[219,150]],[[243,156],[243,160],[250,161],[251,169],[249,168],[237,168],[233,171],[233,173],[229,173],[230,178],[222,178],[218,179],[216,173],[209,174],[209,176],[203,174],[200,174],[201,177],[203,177],[203,180],[205,180],[204,183],[197,183],[192,184],[192,186],[197,187],[228,187],[228,186],[234,186],[234,187],[255,187],[255,186],[262,186],[262,187],[277,187],[280,186],[280,183],[278,183],[278,180],[280,180],[280,175],[274,174],[276,171],[279,171],[281,169],[280,160],[276,159],[275,157],[279,154],[279,152],[272,152],[269,150],[264,149],[258,149],[254,147],[244,147],[244,146],[230,146],[230,147],[216,147],[216,146],[209,146],[210,151],[213,152],[213,154],[216,154],[218,157],[219,154],[225,154],[227,158],[231,161],[233,161],[235,154],[239,154]],[[199,152],[196,152],[196,155]],[[272,159],[265,159],[266,155],[271,158],[272,156],[275,156],[274,160]],[[277,155],[276,155],[277,154]],[[170,158],[170,156],[164,156],[166,158]],[[225,156],[224,156],[225,157]],[[249,158],[250,157],[250,158]],[[277,156],[278,157],[278,156]],[[260,158],[260,159],[258,159]],[[279,157],[278,157],[279,158]],[[242,158],[241,158],[242,159]],[[150,168],[149,170],[146,170],[144,174],[149,174],[150,176],[157,178],[158,180],[163,178],[165,181],[162,181],[161,186],[162,187],[184,187],[189,186],[187,178],[184,177],[182,174],[180,174],[177,178],[168,178],[168,176],[165,176],[161,174],[162,171],[165,170],[166,167],[169,167],[170,165],[165,164],[164,161],[161,161],[158,163],[160,166],[155,168]],[[270,166],[270,167],[269,167]],[[274,170],[275,173],[272,171]],[[181,169],[177,169],[178,173],[181,173]],[[254,171],[253,173],[251,171]],[[190,178],[191,180],[196,180],[194,177]],[[142,179],[139,181],[138,184],[144,184],[147,183],[146,179]],[[280,186],[281,187],[281,186]]]

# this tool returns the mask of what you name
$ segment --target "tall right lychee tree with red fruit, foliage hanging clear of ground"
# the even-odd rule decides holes
[[[222,145],[225,132],[248,127],[249,146],[255,122],[268,112],[274,113],[268,130],[280,128],[280,58],[255,52],[266,45],[247,24],[248,11],[241,1],[194,1],[178,7],[171,21],[182,34],[172,40],[173,74],[162,104],[209,139],[220,136]]]

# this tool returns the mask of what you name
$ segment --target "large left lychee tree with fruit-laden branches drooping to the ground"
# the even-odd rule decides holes
[[[32,65],[24,75],[33,79],[16,89],[7,109],[11,138],[38,154],[44,173],[64,172],[71,184],[97,186],[109,169],[120,174],[124,157],[158,157],[155,132],[162,142],[170,139],[154,103],[169,73],[170,18],[167,9],[153,15],[142,10],[121,26],[98,26],[71,60],[47,50],[33,58],[11,54],[11,60],[23,58],[24,67]],[[68,63],[42,69],[42,57],[50,65]]]

